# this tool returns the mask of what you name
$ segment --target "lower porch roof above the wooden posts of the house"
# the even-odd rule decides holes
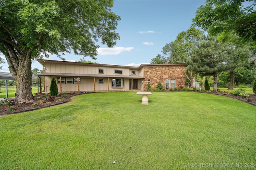
[[[38,74],[38,76],[59,76],[59,77],[104,77],[104,78],[136,78],[144,79],[142,76],[124,76],[124,75],[103,75],[103,74],[75,74],[75,73],[56,73],[56,72],[44,72]]]

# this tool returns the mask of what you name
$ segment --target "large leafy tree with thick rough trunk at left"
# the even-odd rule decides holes
[[[113,47],[120,17],[111,12],[113,0],[1,0],[0,51],[17,83],[17,100],[34,99],[31,63],[61,57],[72,50],[95,59],[98,39]],[[60,54],[61,53],[61,54]]]

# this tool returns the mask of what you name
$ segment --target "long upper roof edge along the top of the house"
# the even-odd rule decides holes
[[[134,70],[139,70],[145,66],[188,66],[186,63],[175,63],[175,64],[141,64],[140,66],[120,66],[120,65],[111,65],[111,64],[94,64],[94,63],[79,63],[74,61],[56,61],[56,60],[42,60],[39,59],[38,62],[44,66],[44,63],[59,63],[59,64],[75,64],[83,66],[106,66],[106,67],[119,67],[119,68],[130,68]]]

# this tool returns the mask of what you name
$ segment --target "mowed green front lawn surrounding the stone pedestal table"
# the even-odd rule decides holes
[[[152,94],[149,105],[136,92],[106,92],[4,116],[0,169],[255,166],[255,106],[211,94]]]

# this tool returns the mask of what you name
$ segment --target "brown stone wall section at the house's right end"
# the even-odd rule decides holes
[[[166,88],[166,79],[175,79],[176,88],[183,88],[186,83],[186,66],[145,66],[143,72],[143,90],[148,89],[148,79],[152,89],[155,89],[159,82]]]

